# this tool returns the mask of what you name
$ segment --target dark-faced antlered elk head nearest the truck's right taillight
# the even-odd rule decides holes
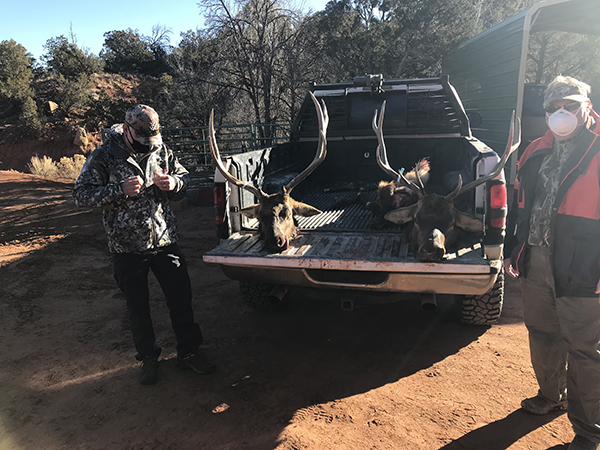
[[[375,110],[375,115],[373,116],[373,131],[377,135],[379,144],[377,147],[377,163],[386,173],[397,178],[398,183],[414,191],[418,196],[416,203],[388,212],[385,214],[385,219],[397,224],[412,222],[413,229],[410,239],[412,244],[418,247],[419,258],[423,261],[440,261],[446,253],[446,246],[456,241],[460,230],[474,233],[483,231],[483,222],[471,214],[456,209],[454,207],[454,199],[500,174],[508,157],[521,143],[520,122],[518,118],[515,119],[513,111],[506,149],[502,155],[502,159],[489,175],[472,181],[465,186],[463,186],[462,177],[459,175],[456,189],[446,196],[440,196],[437,194],[427,194],[420,177],[417,179],[417,182],[414,182],[390,167],[383,139],[384,113],[385,101],[381,105],[379,118],[377,117],[377,110]]]

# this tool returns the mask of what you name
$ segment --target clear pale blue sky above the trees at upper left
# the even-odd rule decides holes
[[[171,44],[182,31],[203,27],[198,0],[0,0],[0,41],[14,39],[35,58],[46,40],[68,37],[73,27],[77,44],[98,53],[104,33],[137,29],[149,36],[156,24],[170,28]],[[304,0],[304,9],[320,11],[327,0]],[[296,4],[300,4],[296,2]]]

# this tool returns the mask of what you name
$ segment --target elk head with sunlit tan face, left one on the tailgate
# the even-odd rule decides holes
[[[217,140],[215,138],[214,128],[214,111],[210,113],[208,124],[208,143],[213,159],[217,163],[217,168],[223,176],[232,184],[242,187],[253,193],[258,199],[258,203],[248,206],[240,210],[240,213],[252,219],[258,219],[259,233],[265,241],[267,251],[277,253],[288,248],[291,239],[294,239],[297,234],[296,223],[294,216],[314,216],[320,214],[321,211],[306,203],[294,200],[290,193],[302,180],[308,177],[319,164],[325,160],[327,154],[327,126],[329,124],[329,116],[327,108],[323,102],[323,108],[317,101],[314,94],[310,93],[311,98],[317,110],[319,120],[319,143],[317,145],[317,153],[310,165],[304,171],[298,174],[286,186],[282,186],[280,192],[275,194],[265,194],[262,189],[244,183],[231,175],[221,160]]]

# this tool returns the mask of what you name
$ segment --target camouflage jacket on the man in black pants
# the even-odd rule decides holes
[[[168,193],[152,183],[155,172],[164,169],[177,180],[175,189]],[[144,180],[142,190],[126,196],[122,182],[135,175]],[[123,142],[122,125],[115,125],[107,141],[87,159],[73,196],[77,206],[102,207],[112,253],[151,253],[177,241],[177,223],[169,200],[188,182],[188,171],[165,144],[146,155],[132,155]]]

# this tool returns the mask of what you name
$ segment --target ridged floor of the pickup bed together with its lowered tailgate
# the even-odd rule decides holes
[[[314,191],[303,198],[322,214],[298,217],[299,236],[281,253],[267,253],[255,231],[233,234],[204,256],[209,263],[246,267],[278,267],[386,272],[489,273],[477,237],[466,237],[437,263],[415,258],[400,226],[371,228],[373,213],[352,204],[332,209],[336,198],[355,191]],[[367,192],[375,200],[376,192]],[[368,231],[368,233],[365,233]]]

